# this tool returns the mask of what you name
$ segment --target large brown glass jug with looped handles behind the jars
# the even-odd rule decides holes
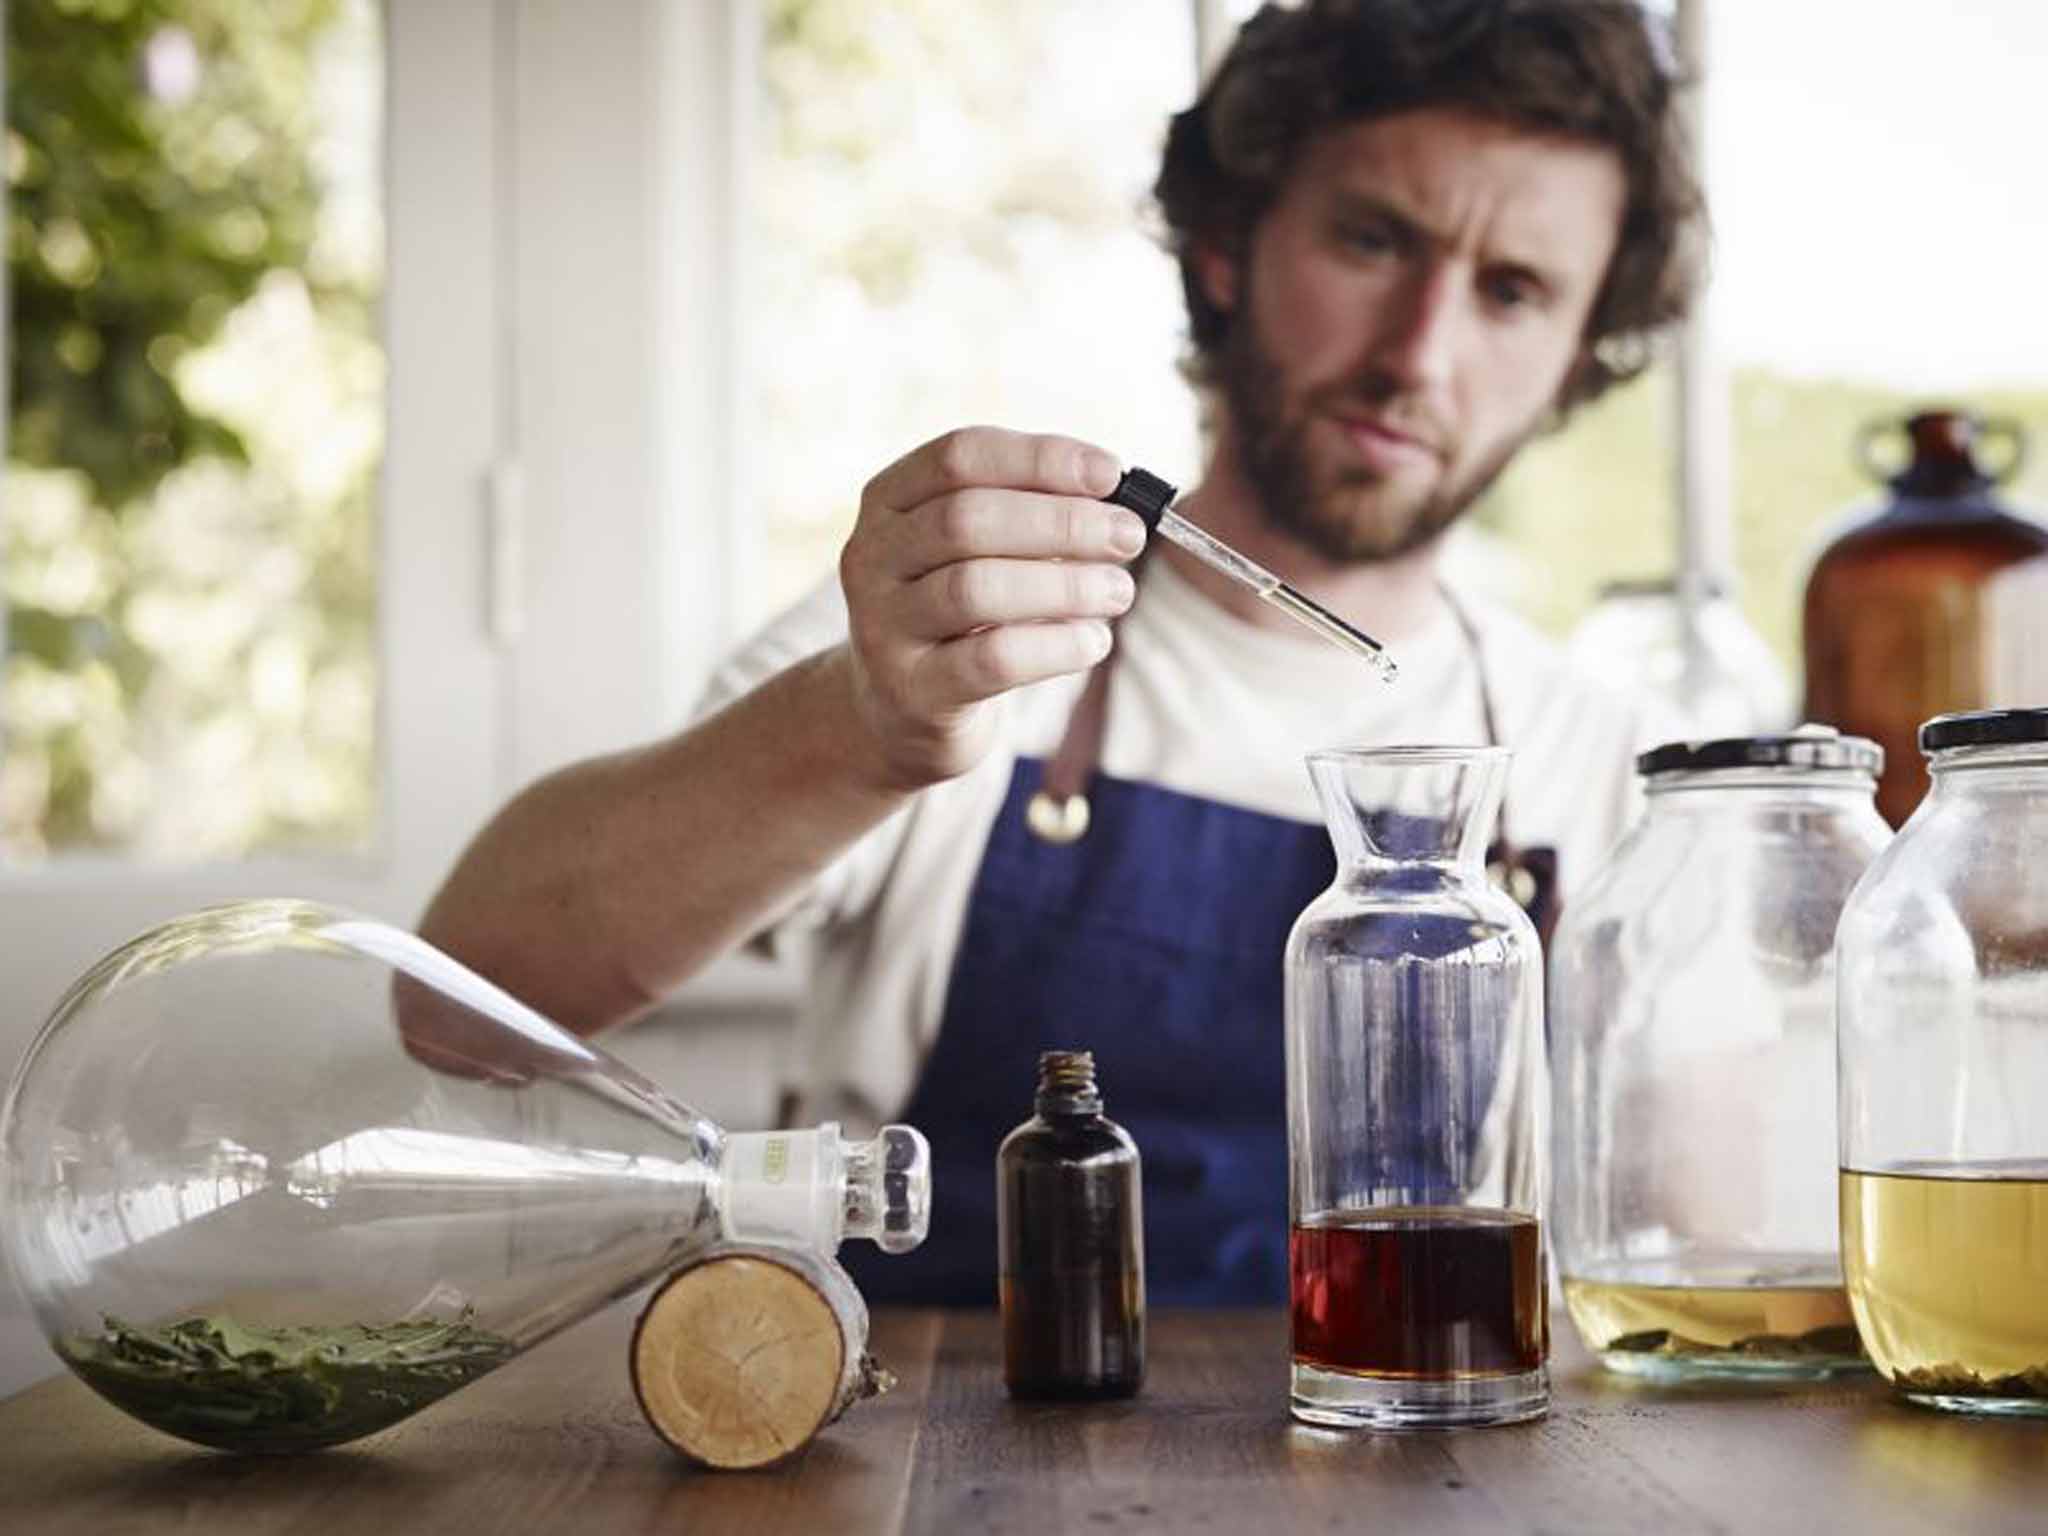
[[[1886,475],[1874,451],[1898,432],[1911,459]],[[1995,459],[1993,444],[2003,444]],[[2021,618],[2019,604],[1993,600],[1995,578],[2048,557],[2048,526],[1991,494],[2023,451],[2017,422],[1968,412],[1868,424],[1858,463],[1892,494],[1841,528],[1806,578],[1804,719],[1884,748],[1878,811],[1894,827],[1927,793],[1921,721],[2032,702],[1993,696],[1997,657],[2015,639],[2001,627]]]

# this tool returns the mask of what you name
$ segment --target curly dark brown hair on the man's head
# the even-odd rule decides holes
[[[1559,414],[1649,367],[1683,319],[1706,250],[1706,199],[1679,119],[1669,39],[1634,0],[1305,0],[1266,4],[1196,102],[1174,117],[1153,195],[1180,260],[1194,342],[1217,379],[1229,313],[1196,248],[1243,260],[1300,152],[1350,123],[1454,106],[1612,147],[1628,184],[1620,242]]]

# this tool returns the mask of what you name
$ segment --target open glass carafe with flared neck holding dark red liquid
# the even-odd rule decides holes
[[[1286,946],[1296,1419],[1550,1403],[1542,950],[1489,879],[1501,748],[1309,756],[1337,877]]]

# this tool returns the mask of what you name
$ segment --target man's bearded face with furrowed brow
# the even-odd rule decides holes
[[[1548,420],[1622,199],[1612,150],[1454,111],[1309,145],[1243,258],[1204,266],[1225,428],[1272,524],[1337,563],[1442,535]]]

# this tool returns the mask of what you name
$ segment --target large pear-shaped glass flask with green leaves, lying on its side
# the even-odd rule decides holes
[[[383,1430],[719,1241],[924,1241],[924,1137],[731,1135],[422,940],[180,918],[0,1104],[0,1243],[63,1362],[227,1450]]]

